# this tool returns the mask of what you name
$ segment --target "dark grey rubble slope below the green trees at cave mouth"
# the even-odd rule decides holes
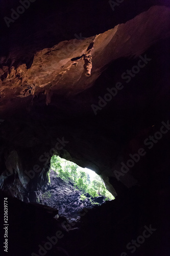
[[[79,212],[83,208],[90,209],[94,206],[99,206],[104,203],[105,197],[99,196],[92,198],[87,193],[86,199],[82,199],[82,191],[74,187],[71,181],[66,182],[60,177],[57,177],[54,170],[50,172],[51,184],[47,189],[39,194],[39,203],[58,209],[59,216],[64,216],[70,221],[79,220]]]

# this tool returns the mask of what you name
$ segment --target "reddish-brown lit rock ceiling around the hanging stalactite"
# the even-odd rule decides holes
[[[169,12],[170,9],[164,6],[151,7],[102,34],[62,41],[52,48],[37,51],[29,62],[23,64],[21,49],[14,48],[8,57],[2,56],[0,60],[0,110],[15,108],[15,104],[22,105],[23,99],[27,104],[34,103],[34,97],[40,93],[46,94],[48,104],[53,94],[68,97],[87,90],[112,61],[122,57],[136,58],[156,42],[168,38]],[[84,59],[71,59],[86,53],[91,42],[94,42],[92,74],[86,77]]]

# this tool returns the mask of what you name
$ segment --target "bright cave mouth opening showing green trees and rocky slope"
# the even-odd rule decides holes
[[[40,203],[57,208],[59,216],[74,218],[84,209],[114,200],[95,172],[54,155],[47,173],[48,186]]]

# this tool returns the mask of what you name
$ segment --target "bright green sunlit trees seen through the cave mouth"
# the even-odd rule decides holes
[[[51,169],[61,179],[74,183],[75,188],[81,190],[83,194],[88,193],[93,198],[104,196],[106,197],[105,201],[114,199],[98,175],[90,176],[86,169],[75,163],[62,159],[59,156],[53,156],[51,159]],[[85,195],[82,195],[83,198],[85,198]]]

